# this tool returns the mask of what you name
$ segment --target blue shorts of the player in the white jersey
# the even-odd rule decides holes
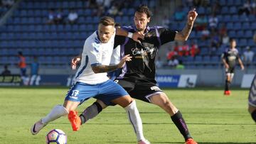
[[[112,80],[102,82],[100,84],[85,84],[82,82],[76,82],[73,87],[70,88],[68,94],[65,97],[65,101],[77,101],[82,104],[91,97],[100,99],[107,106],[112,105],[111,101],[121,96],[129,95],[119,84]]]

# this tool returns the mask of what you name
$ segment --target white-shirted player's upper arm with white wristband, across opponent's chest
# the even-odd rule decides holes
[[[140,39],[144,39],[144,35],[142,33],[130,33],[128,31],[123,30],[122,28],[116,28],[116,35],[122,35],[128,38],[132,38],[134,41],[141,43]]]

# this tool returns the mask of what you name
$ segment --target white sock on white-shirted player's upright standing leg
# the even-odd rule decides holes
[[[132,103],[124,109],[127,111],[128,119],[134,128],[134,132],[137,135],[137,140],[145,140],[142,128],[142,118],[139,116],[136,102],[132,101]]]

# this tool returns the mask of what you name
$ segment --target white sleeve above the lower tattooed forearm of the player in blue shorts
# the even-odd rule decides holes
[[[102,63],[102,51],[100,50],[100,43],[93,41],[90,43],[90,40],[85,41],[85,52],[89,58],[91,65],[100,65]]]

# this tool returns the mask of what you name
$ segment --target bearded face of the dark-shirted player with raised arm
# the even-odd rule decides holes
[[[149,21],[150,21],[150,18],[147,18],[146,13],[136,12],[134,15],[134,23],[137,31],[144,31]]]

